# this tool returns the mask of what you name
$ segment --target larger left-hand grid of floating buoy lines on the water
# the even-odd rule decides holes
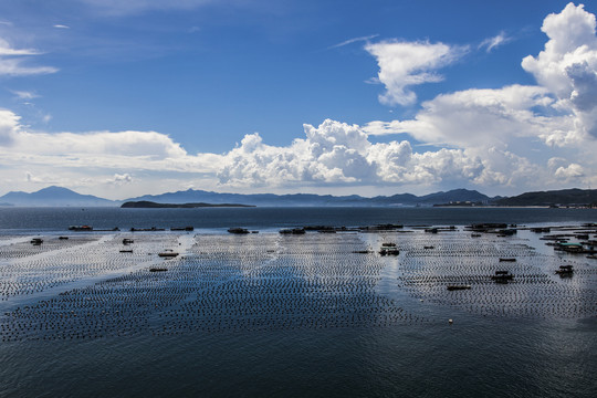
[[[184,255],[167,261],[158,260],[156,253],[168,247],[176,250],[176,235],[135,235],[130,244],[134,252],[119,253],[123,237],[76,250],[74,262],[61,252],[45,256],[45,265],[33,266],[33,274],[49,281],[60,280],[44,273],[54,266],[67,276],[66,282],[84,282],[90,273],[114,268],[130,271],[82,283],[4,313],[2,339],[384,327],[425,322],[376,293],[385,263],[375,253],[355,253],[367,249],[356,233],[198,234]],[[156,261],[168,271],[150,272]],[[20,270],[29,266],[21,265]],[[22,283],[27,286],[29,282]],[[20,287],[19,292],[25,290]]]

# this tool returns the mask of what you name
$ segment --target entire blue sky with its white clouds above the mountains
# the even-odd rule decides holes
[[[597,4],[2,0],[0,195],[597,186]]]

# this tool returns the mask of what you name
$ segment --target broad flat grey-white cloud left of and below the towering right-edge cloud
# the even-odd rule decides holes
[[[423,143],[462,148],[495,146],[512,137],[547,140],[558,135],[565,139],[573,128],[569,117],[545,117],[534,111],[553,102],[547,90],[538,86],[471,88],[422,103],[413,119],[371,122],[365,129],[371,135],[408,133]]]

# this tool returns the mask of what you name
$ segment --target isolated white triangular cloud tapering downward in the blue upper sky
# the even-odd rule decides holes
[[[413,85],[440,82],[443,77],[434,71],[452,63],[463,49],[443,43],[383,41],[365,46],[379,65],[378,81],[386,86],[379,96],[385,105],[409,105],[417,95]]]

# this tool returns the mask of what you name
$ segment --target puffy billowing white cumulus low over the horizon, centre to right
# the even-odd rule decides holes
[[[256,134],[222,156],[224,186],[305,184],[516,186],[540,168],[495,148],[415,153],[409,142],[373,144],[363,127],[327,119],[304,125],[305,139],[289,147],[263,144]]]

